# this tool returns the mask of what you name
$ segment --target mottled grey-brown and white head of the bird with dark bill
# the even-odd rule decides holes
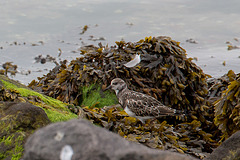
[[[121,78],[115,78],[111,81],[111,84],[105,90],[113,89],[117,95],[119,91],[122,91],[126,88],[127,84],[124,82],[124,80],[122,80]]]

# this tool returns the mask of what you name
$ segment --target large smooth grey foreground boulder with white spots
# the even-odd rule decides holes
[[[39,129],[25,143],[24,160],[190,160],[180,153],[127,141],[86,120],[70,120]]]

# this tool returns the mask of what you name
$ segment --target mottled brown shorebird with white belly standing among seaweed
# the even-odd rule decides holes
[[[147,119],[182,114],[182,111],[167,107],[152,96],[129,90],[126,82],[121,78],[113,79],[104,91],[108,89],[115,91],[123,110],[130,117],[139,119],[143,124]]]

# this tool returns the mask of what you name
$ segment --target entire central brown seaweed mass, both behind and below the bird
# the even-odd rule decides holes
[[[213,123],[211,98],[219,92],[207,79],[210,77],[187,58],[179,42],[169,37],[146,37],[138,42],[116,42],[115,46],[84,46],[82,56],[61,62],[47,75],[29,84],[50,97],[71,104],[70,109],[85,115],[93,123],[151,148],[174,150],[203,158],[217,147],[218,128]],[[140,55],[140,63],[125,65]],[[105,89],[113,78],[122,78],[131,90],[151,95],[166,106],[183,110],[183,117],[163,117],[142,125],[118,108],[84,107],[83,87],[98,84]],[[97,90],[100,94],[102,90]],[[90,92],[89,92],[90,93]],[[210,98],[211,97],[211,98]],[[82,106],[83,111],[78,112]],[[82,116],[81,116],[82,117]]]

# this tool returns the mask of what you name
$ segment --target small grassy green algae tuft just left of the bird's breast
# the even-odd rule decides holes
[[[103,93],[100,85],[91,84],[80,88],[82,93],[81,105],[89,107],[104,107],[118,104],[117,97],[111,91]]]

